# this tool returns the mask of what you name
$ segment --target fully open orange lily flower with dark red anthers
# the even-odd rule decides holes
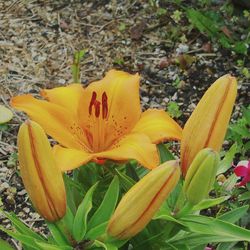
[[[163,110],[142,113],[138,74],[110,70],[83,88],[71,84],[12,98],[61,145],[54,147],[58,166],[71,170],[91,160],[137,160],[152,169],[159,163],[155,143],[180,140],[182,129]]]

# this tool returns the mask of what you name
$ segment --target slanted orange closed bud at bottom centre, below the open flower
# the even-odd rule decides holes
[[[153,169],[122,198],[108,224],[108,234],[119,239],[139,233],[175,188],[180,177],[178,161]]]

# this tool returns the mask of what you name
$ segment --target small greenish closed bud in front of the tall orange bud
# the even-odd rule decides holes
[[[213,187],[219,164],[219,155],[210,148],[202,149],[188,169],[183,190],[189,203],[198,204]]]

